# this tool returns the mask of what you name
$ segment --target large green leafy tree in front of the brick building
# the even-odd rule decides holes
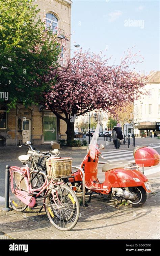
[[[46,77],[57,66],[60,46],[38,12],[32,0],[1,0],[0,91],[8,92],[10,108],[17,100],[25,106],[39,102],[54,84],[54,77]]]

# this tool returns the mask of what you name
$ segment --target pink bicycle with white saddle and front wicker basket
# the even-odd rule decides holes
[[[35,157],[37,155],[38,153],[35,152]],[[27,206],[35,207],[37,198],[44,198],[44,208],[52,225],[62,231],[71,230],[79,219],[79,202],[74,191],[64,183],[64,179],[70,178],[70,176],[65,175],[65,170],[62,177],[55,178],[51,174],[53,171],[55,172],[57,166],[58,171],[62,167],[65,168],[65,163],[69,166],[72,158],[51,156],[48,159],[50,175],[46,175],[38,169],[34,170],[35,177],[36,174],[44,175],[45,181],[41,187],[33,188],[28,167],[30,157],[33,157],[33,155],[19,156],[19,160],[25,165],[24,167],[10,167],[9,202],[11,207],[18,212],[22,212]],[[53,163],[55,164],[54,170],[52,170]],[[55,173],[54,176],[56,176]]]

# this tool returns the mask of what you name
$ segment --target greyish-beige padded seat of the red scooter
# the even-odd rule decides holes
[[[122,161],[120,163],[117,163],[117,162],[106,163],[102,167],[102,172],[108,172],[110,170],[118,169],[118,168],[133,167],[133,164],[135,164],[135,161]]]

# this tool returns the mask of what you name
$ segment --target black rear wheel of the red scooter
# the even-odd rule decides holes
[[[135,207],[135,208],[144,205],[147,195],[143,187],[130,187],[129,191],[136,194],[136,198],[134,200],[133,199],[127,200],[127,203],[129,205],[132,205],[132,207]]]

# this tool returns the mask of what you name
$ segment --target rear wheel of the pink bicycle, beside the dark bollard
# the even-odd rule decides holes
[[[13,188],[16,189],[17,185],[19,184],[19,181],[21,179],[21,174],[19,172],[13,172]],[[21,191],[27,191],[27,183],[25,179],[21,180],[18,189]],[[12,193],[11,190],[11,179],[9,179],[9,203],[11,207],[16,210],[17,212],[23,212],[26,208],[27,205],[24,204],[15,194]]]

